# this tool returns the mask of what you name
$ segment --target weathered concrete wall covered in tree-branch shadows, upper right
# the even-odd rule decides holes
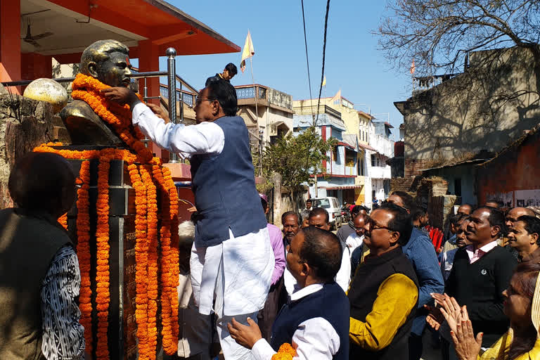
[[[466,72],[406,101],[400,109],[405,176],[429,160],[496,152],[534,127],[540,121],[535,65],[539,59],[523,49],[473,53]]]

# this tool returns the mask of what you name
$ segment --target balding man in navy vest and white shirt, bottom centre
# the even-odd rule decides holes
[[[287,267],[300,290],[276,318],[271,343],[251,319],[250,326],[233,319],[229,324],[233,339],[252,349],[256,360],[271,360],[285,342],[295,348],[294,360],[349,359],[349,302],[333,281],[341,257],[340,240],[333,233],[314,226],[302,229],[287,253]]]

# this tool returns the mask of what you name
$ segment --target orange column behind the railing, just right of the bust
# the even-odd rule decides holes
[[[155,45],[150,40],[139,41],[139,71],[158,71],[160,70],[160,49],[158,45]],[[146,87],[148,88],[148,96],[160,96],[160,78],[148,77],[146,79]],[[139,91],[141,95],[144,94],[144,79],[139,80]],[[150,103],[160,104],[159,99],[149,100]],[[152,152],[156,156],[164,160],[169,159],[169,153],[166,150],[162,150],[154,143],[149,143]]]

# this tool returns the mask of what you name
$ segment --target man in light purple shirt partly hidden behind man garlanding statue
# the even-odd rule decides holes
[[[268,214],[268,198],[266,195],[259,193],[261,198],[262,210],[264,214]],[[283,233],[274,224],[266,224],[266,229],[270,235],[270,243],[274,250],[274,273],[272,273],[272,283],[264,303],[264,308],[257,314],[259,319],[259,328],[261,329],[262,337],[270,341],[272,335],[272,324],[278,314],[278,302],[281,288],[283,288],[283,271],[285,270],[285,249],[283,248]]]

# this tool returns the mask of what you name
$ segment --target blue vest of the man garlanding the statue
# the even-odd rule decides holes
[[[214,121],[225,143],[219,155],[193,155],[191,181],[195,193],[195,246],[218,245],[229,238],[266,227],[261,200],[255,188],[250,138],[239,116]]]

